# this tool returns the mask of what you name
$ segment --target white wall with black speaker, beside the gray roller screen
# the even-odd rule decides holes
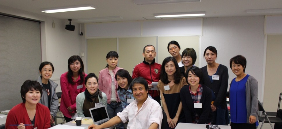
[[[68,31],[65,29],[65,25],[69,23],[67,20],[51,18],[1,5],[0,12],[42,21],[42,61],[50,61],[54,65],[55,71],[51,80],[59,84],[56,92],[61,92],[59,79],[61,74],[68,70],[68,58],[72,55],[80,55],[82,47],[85,48],[85,42],[83,42],[84,37],[79,36],[79,24],[72,23],[72,25],[75,25],[75,31]],[[53,21],[55,22],[55,28],[52,28]],[[86,62],[85,58],[82,59]],[[37,77],[30,78],[37,79]]]

